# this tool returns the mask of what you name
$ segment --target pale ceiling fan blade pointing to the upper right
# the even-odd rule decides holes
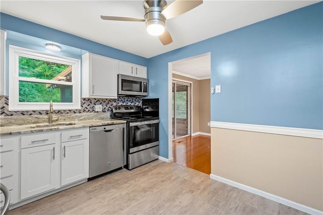
[[[165,8],[161,15],[163,15],[166,19],[172,19],[174,17],[177,17],[181,14],[184,14],[197,6],[201,5],[203,3],[202,0],[199,1],[185,1],[185,0],[175,0],[173,3],[171,3],[167,8]]]

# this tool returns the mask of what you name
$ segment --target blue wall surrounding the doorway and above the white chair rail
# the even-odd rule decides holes
[[[323,129],[323,3],[149,58],[168,158],[168,62],[211,53],[211,121]],[[214,26],[216,28],[216,26]]]

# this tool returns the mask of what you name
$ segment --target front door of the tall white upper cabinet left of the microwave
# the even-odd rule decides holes
[[[117,98],[118,61],[93,54],[90,57],[91,97]]]

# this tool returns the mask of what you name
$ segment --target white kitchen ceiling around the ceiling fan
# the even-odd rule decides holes
[[[143,18],[143,1],[2,0],[0,11],[149,58],[317,2],[204,0],[197,8],[167,21],[174,41],[167,46],[146,32],[144,22],[100,19],[100,15]]]

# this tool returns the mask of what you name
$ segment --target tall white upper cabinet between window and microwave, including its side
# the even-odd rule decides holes
[[[97,54],[82,56],[82,97],[117,98],[118,60]]]

